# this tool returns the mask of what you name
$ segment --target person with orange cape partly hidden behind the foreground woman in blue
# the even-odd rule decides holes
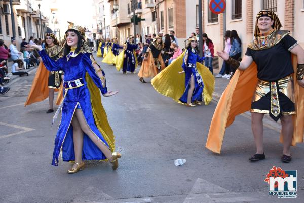
[[[45,45],[45,52],[53,60],[56,60],[61,47],[53,33],[46,33]],[[35,78],[33,79],[33,83],[24,106],[43,101],[49,97],[49,110],[47,113],[54,112],[54,92],[58,91],[60,88],[61,74],[62,71],[48,71],[45,68],[44,63],[41,61],[37,68]],[[60,101],[57,100],[56,104],[59,105],[59,103]]]

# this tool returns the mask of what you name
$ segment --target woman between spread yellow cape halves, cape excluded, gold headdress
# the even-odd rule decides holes
[[[195,104],[202,105],[203,79],[197,70],[196,62],[201,63],[205,57],[200,57],[198,42],[196,37],[188,39],[189,44],[183,58],[182,69],[179,74],[185,73],[185,91],[179,101],[186,103],[187,106],[194,107]]]

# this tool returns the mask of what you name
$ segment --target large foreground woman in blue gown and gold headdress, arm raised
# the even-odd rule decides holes
[[[65,34],[66,42],[56,61],[41,46],[27,46],[39,50],[49,71],[65,73],[65,93],[58,108],[62,107],[61,123],[55,138],[52,165],[58,166],[61,153],[63,161],[75,161],[68,173],[83,170],[84,160],[107,159],[116,170],[121,155],[113,152],[115,140],[101,104],[100,91],[106,97],[117,91],[107,91],[104,72],[85,43],[85,29],[70,23]]]

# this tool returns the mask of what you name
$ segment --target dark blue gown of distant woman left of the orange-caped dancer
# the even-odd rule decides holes
[[[134,72],[135,71],[135,64],[136,64],[135,57],[136,56],[134,56],[134,53],[133,53],[133,51],[135,49],[137,49],[137,45],[130,44],[129,42],[127,42],[127,47],[125,49],[125,54],[127,56],[126,56],[126,58],[124,58],[123,72],[126,72],[126,71]]]

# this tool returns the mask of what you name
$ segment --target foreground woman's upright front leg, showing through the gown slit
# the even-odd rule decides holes
[[[75,152],[75,163],[82,163],[82,152],[84,143],[84,133],[80,127],[77,117],[74,115],[72,118],[73,126],[73,141],[74,141],[74,152]],[[72,168],[77,167],[76,164]]]

